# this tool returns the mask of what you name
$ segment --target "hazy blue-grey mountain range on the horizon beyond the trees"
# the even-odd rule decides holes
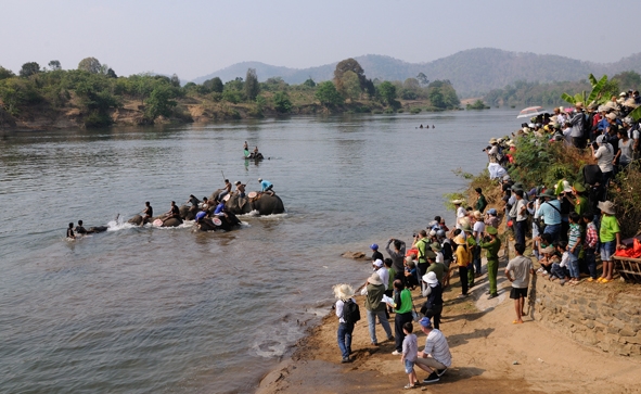
[[[590,73],[597,77],[603,74],[613,76],[625,71],[641,73],[641,52],[615,63],[604,64],[552,54],[509,52],[495,48],[470,49],[428,63],[408,63],[379,54],[354,59],[363,67],[368,78],[405,80],[423,73],[430,80],[449,79],[463,98],[480,96],[517,80],[574,81],[587,79]],[[260,81],[270,77],[282,77],[287,84],[302,84],[311,77],[319,82],[332,79],[337,63],[338,61],[317,67],[290,68],[260,62],[242,62],[195,78],[193,82],[202,84],[214,77],[220,77],[223,82],[236,77],[244,78],[247,68],[256,68]]]

